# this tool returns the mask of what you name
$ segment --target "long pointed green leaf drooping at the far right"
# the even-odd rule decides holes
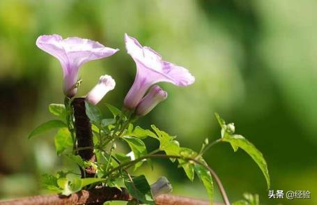
[[[233,147],[234,151],[237,151],[238,148],[243,149],[252,159],[256,162],[258,167],[260,167],[263,172],[266,182],[268,183],[268,188],[270,188],[270,175],[268,174],[268,165],[263,158],[263,155],[256,147],[249,142],[242,135],[230,135],[222,138],[224,142],[229,142]]]

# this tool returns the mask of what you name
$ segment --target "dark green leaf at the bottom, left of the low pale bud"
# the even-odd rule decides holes
[[[155,204],[152,193],[150,192],[150,185],[144,175],[132,176],[132,181],[129,177],[125,176],[124,183],[127,191],[135,199],[145,204]]]

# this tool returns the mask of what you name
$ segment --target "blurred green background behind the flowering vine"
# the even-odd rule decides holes
[[[219,137],[214,112],[234,122],[263,152],[272,190],[309,190],[312,199],[268,199],[260,169],[243,151],[220,144],[206,155],[231,202],[242,193],[262,204],[317,204],[317,1],[288,0],[100,0],[0,1],[0,198],[43,193],[39,178],[68,163],[56,157],[52,133],[28,140],[39,123],[52,119],[47,106],[63,102],[59,61],[39,50],[42,34],[91,38],[121,52],[86,63],[78,96],[100,75],[116,80],[102,102],[121,107],[135,74],[126,54],[128,33],[190,70],[196,82],[162,84],[169,98],[138,123],[178,135],[182,146],[199,150]],[[106,111],[104,103],[100,108]],[[148,140],[149,149],[155,142]],[[203,185],[182,169],[158,160],[150,183],[161,175],[173,193],[208,199]],[[217,201],[221,197],[217,195]]]

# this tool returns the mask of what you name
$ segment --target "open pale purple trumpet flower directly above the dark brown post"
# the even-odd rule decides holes
[[[118,49],[105,47],[93,40],[78,37],[63,39],[56,34],[39,36],[36,45],[59,59],[63,68],[63,91],[70,98],[77,93],[75,84],[80,66],[88,61],[102,59],[118,52]]]

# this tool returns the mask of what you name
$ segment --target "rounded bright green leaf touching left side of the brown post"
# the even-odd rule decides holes
[[[61,155],[66,150],[72,149],[72,137],[68,128],[61,128],[54,138],[57,155]]]

